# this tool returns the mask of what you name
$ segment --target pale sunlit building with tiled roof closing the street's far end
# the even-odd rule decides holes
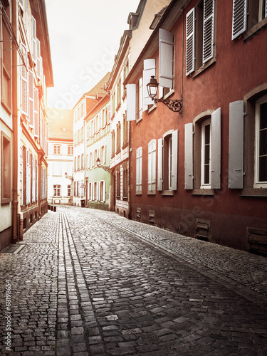
[[[48,204],[73,204],[73,110],[48,108]]]

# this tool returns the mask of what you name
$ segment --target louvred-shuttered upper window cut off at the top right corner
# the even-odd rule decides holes
[[[263,21],[266,17],[267,0],[234,0],[232,40],[238,38],[247,29],[253,28],[254,26],[255,31],[258,31],[258,29],[261,28],[261,26],[258,26],[258,23]],[[266,23],[267,21],[264,21],[262,26],[266,25]],[[250,33],[250,35],[252,33]]]

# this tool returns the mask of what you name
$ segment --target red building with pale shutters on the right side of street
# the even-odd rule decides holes
[[[125,80],[132,219],[267,251],[266,16],[266,0],[164,11]],[[151,75],[182,113],[150,99]]]

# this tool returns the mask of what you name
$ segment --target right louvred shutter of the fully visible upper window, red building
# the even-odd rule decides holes
[[[214,56],[214,0],[204,0],[203,63]]]

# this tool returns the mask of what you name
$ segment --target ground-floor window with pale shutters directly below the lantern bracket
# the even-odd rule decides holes
[[[177,190],[178,130],[166,132],[158,140],[157,190],[169,194]]]

